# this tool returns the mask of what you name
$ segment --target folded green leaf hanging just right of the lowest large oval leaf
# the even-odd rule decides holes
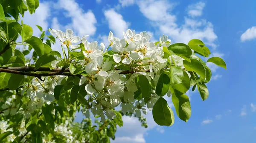
[[[178,90],[172,93],[172,103],[179,118],[187,122],[191,116],[189,97]]]

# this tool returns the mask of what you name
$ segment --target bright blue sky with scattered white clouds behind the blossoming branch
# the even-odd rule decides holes
[[[213,71],[209,98],[201,101],[198,92],[187,93],[189,121],[175,115],[173,126],[158,126],[149,112],[149,127],[144,129],[136,118],[124,117],[113,143],[255,143],[255,14],[255,0],[41,0],[36,13],[26,12],[23,20],[33,29],[35,24],[44,30],[71,28],[106,45],[109,31],[122,38],[128,28],[147,31],[152,41],[162,34],[173,43],[203,40],[213,56],[226,61],[228,70],[208,65]],[[58,50],[59,45],[52,48]]]

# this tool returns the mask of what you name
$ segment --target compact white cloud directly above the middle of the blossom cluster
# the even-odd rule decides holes
[[[117,13],[113,9],[104,11],[104,15],[106,17],[106,20],[108,21],[109,29],[113,31],[114,36],[122,38],[122,32],[126,32],[130,23],[123,20],[122,15]]]

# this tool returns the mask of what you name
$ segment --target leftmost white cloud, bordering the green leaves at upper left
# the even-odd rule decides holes
[[[44,31],[48,29],[47,18],[50,16],[49,3],[41,2],[40,6],[35,10],[35,14],[29,14],[29,11],[24,13],[24,18],[21,17],[24,24],[29,25],[33,28],[33,36],[40,36],[41,31],[36,25],[43,28]]]

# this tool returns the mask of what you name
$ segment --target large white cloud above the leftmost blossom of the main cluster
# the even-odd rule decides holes
[[[67,11],[65,17],[70,17],[65,28],[73,29],[78,36],[94,35],[96,32],[96,18],[91,10],[85,12],[75,0],[58,0],[54,8]]]

